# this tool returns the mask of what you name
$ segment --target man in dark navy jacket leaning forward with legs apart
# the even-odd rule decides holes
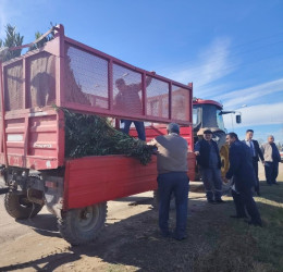
[[[226,143],[230,145],[229,161],[230,168],[226,178],[233,177],[232,196],[236,207],[236,215],[233,218],[246,218],[246,211],[250,217],[248,224],[262,226],[257,205],[253,198],[251,188],[256,184],[256,175],[253,166],[250,148],[238,140],[235,133],[226,135]]]

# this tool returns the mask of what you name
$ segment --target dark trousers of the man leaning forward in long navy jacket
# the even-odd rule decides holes
[[[246,217],[246,210],[247,210],[251,222],[255,224],[261,224],[260,214],[257,205],[253,198],[251,189],[246,189],[239,193],[236,193],[232,189],[232,197],[234,199],[236,213],[238,217],[241,218]]]

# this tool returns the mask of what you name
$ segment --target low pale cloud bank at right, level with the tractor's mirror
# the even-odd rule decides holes
[[[248,108],[241,108],[237,111],[242,113],[242,124],[237,124],[237,127],[283,124],[283,102],[257,104]],[[231,116],[223,116],[226,128],[233,128]]]

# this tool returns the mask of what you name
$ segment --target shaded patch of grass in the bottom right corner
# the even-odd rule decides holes
[[[199,230],[211,236],[208,239],[210,249],[196,256],[195,271],[283,271],[283,183],[278,187],[262,186],[261,189],[262,197],[255,199],[263,227],[229,219],[235,213],[231,205],[216,206],[212,212],[201,212],[202,222],[214,222]],[[226,200],[233,201],[231,197]]]

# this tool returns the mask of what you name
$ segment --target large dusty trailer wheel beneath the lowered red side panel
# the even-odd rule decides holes
[[[97,238],[106,218],[107,202],[69,210],[58,220],[59,231],[72,246],[86,244]]]

